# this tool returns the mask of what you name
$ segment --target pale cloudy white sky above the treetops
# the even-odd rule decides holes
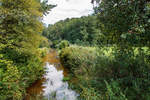
[[[93,12],[91,0],[48,0],[48,3],[57,6],[44,17],[43,22],[47,25],[66,18],[87,16]]]

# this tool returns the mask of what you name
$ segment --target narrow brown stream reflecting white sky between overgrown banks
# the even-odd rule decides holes
[[[27,88],[25,100],[76,100],[78,94],[69,89],[67,82],[63,82],[67,70],[61,65],[57,52],[51,50],[43,61],[45,74]]]

